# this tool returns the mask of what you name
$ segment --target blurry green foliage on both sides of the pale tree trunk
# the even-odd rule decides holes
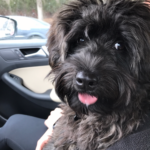
[[[42,0],[43,12],[52,15],[68,1],[70,0]],[[10,5],[6,0],[0,0],[0,15],[14,14],[37,17],[36,0],[10,0]]]

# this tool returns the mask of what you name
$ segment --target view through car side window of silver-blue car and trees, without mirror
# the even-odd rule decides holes
[[[54,13],[68,1],[0,0],[0,15],[17,21],[17,32],[11,40],[47,39]]]

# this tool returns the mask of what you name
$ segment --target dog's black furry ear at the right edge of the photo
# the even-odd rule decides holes
[[[130,33],[136,39],[130,42],[134,56],[131,67],[141,82],[150,81],[150,1],[133,1],[127,14],[132,18]]]

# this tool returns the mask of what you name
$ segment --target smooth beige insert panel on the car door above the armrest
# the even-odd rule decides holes
[[[50,66],[25,67],[10,71],[23,80],[23,85],[35,93],[44,93],[53,89],[52,81],[47,75],[51,71]]]

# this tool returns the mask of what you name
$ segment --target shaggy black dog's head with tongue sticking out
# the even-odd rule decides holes
[[[129,107],[150,82],[149,6],[132,0],[71,2],[56,15],[48,47],[56,92],[74,111]]]

